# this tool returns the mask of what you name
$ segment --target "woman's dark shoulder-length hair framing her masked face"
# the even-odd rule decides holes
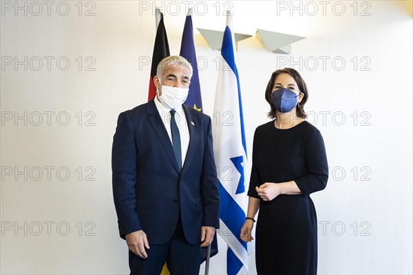
[[[304,94],[303,99],[301,100],[301,102],[299,102],[295,110],[297,111],[297,116],[299,118],[306,118],[307,115],[306,115],[306,112],[304,111],[304,104],[306,104],[308,100],[307,85],[304,82],[304,79],[301,78],[299,73],[295,69],[292,69],[292,68],[277,69],[277,71],[273,72],[273,74],[271,75],[270,81],[268,81],[268,85],[265,89],[265,99],[271,106],[271,111],[268,112],[268,117],[277,119],[275,115],[275,107],[274,107],[273,100],[272,100],[272,91],[273,91],[273,87],[275,84],[275,79],[280,74],[289,74],[292,78],[294,78],[295,82],[298,85],[299,91]]]

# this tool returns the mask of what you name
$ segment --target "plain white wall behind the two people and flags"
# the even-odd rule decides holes
[[[291,55],[255,38],[237,45],[248,155],[268,121],[271,73],[299,69],[330,165],[326,190],[312,195],[319,274],[412,274],[412,17],[399,1],[321,2],[193,2],[193,23],[224,30],[231,4],[235,32],[306,36]],[[178,54],[185,1],[1,1],[1,274],[128,273],[110,153],[118,113],[147,100],[155,5]],[[198,31],[195,45],[211,115],[220,52]],[[225,248],[220,239],[210,274],[225,273]]]

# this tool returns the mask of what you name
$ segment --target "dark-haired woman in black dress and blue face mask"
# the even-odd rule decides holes
[[[257,273],[317,274],[317,216],[312,192],[323,190],[328,164],[323,137],[304,120],[306,83],[295,69],[273,72],[265,98],[271,122],[258,126],[253,143],[253,167],[248,213],[241,228],[251,241],[257,218]]]

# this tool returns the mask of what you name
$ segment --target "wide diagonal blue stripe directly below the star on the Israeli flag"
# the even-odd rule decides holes
[[[220,188],[220,219],[246,249],[246,242],[240,238],[240,230],[245,221],[245,212],[233,197],[229,195],[229,192],[226,192],[219,179],[218,186]]]

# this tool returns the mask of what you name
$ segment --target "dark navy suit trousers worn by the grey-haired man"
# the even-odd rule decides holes
[[[169,242],[161,245],[149,243],[149,248],[146,250],[147,259],[142,259],[129,250],[130,275],[158,275],[165,262],[171,275],[198,275],[200,272],[200,241],[194,244],[187,242],[180,216]]]

